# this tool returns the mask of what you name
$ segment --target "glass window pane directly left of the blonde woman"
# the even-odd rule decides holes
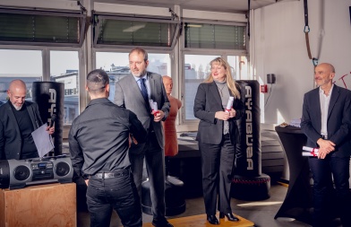
[[[184,56],[184,103],[185,120],[197,119],[193,116],[193,101],[200,83],[210,74],[210,61],[219,56]]]

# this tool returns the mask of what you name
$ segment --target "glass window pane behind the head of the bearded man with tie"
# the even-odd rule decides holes
[[[114,101],[115,83],[130,74],[129,53],[97,52],[96,68],[104,69],[110,78],[110,94],[108,100]],[[169,75],[171,71],[169,54],[149,53],[148,71],[161,75]]]

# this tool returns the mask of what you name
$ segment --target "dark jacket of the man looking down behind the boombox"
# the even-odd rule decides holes
[[[43,125],[36,103],[25,101],[34,130]],[[0,107],[0,160],[19,160],[21,157],[21,132],[9,101]]]

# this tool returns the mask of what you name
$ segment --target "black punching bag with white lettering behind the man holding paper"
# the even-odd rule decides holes
[[[39,106],[43,122],[51,123],[51,116],[56,115],[54,139],[54,155],[62,154],[62,137],[64,124],[64,83],[33,82],[33,101]]]

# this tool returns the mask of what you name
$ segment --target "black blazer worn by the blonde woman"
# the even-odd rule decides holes
[[[237,89],[238,86],[236,86]],[[230,92],[231,96],[233,94]],[[236,111],[235,118],[230,118],[229,135],[232,144],[240,143],[239,131],[236,120],[244,114],[244,103],[241,99],[235,99],[233,109]],[[222,100],[215,82],[201,83],[195,96],[193,114],[200,119],[196,140],[205,144],[220,144],[223,136],[223,120],[215,118],[217,111],[223,111]]]

